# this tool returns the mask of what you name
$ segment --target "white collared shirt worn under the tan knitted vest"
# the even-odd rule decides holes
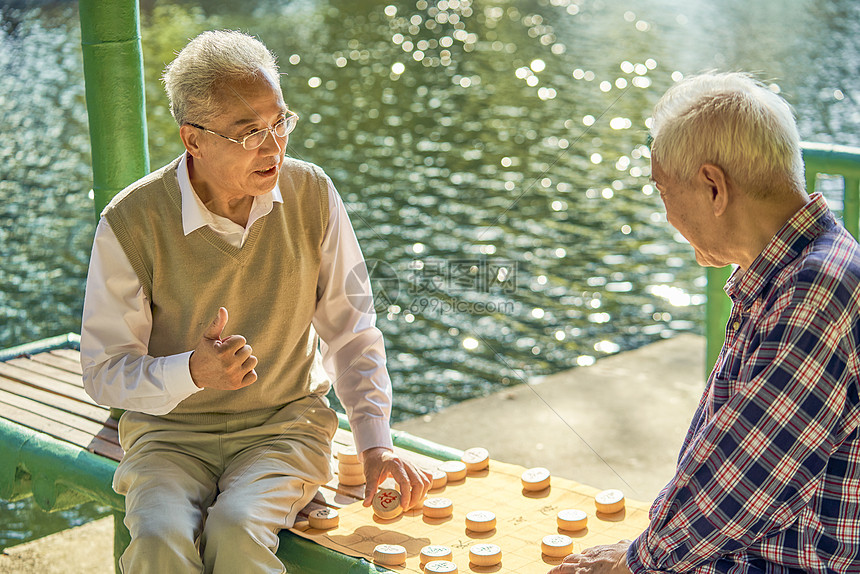
[[[191,186],[184,154],[176,176],[185,235],[209,226],[241,247],[254,222],[268,215],[275,202],[283,203],[277,186],[255,197],[248,223],[242,227],[206,209]],[[349,415],[359,452],[374,446],[391,448],[391,380],[382,333],[375,314],[357,310],[345,291],[347,274],[364,257],[343,201],[331,180],[327,183],[329,220],[321,246],[312,323],[321,339],[323,365]],[[84,387],[96,402],[162,415],[201,390],[191,380],[191,351],[166,357],[147,355],[151,331],[151,309],[140,280],[110,225],[101,218],[93,240],[81,325]]]

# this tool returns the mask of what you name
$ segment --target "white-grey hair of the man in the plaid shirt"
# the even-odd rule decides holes
[[[792,108],[748,74],[709,73],[678,82],[654,108],[651,137],[651,157],[681,183],[713,163],[754,198],[805,188]]]

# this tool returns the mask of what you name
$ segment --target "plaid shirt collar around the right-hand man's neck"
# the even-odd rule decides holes
[[[725,291],[733,301],[751,303],[771,279],[791,263],[812,241],[836,225],[836,219],[820,193],[782,226],[745,272],[735,269],[726,282]]]

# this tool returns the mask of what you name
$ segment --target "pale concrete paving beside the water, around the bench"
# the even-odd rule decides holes
[[[672,475],[701,396],[704,349],[704,338],[680,335],[395,428],[649,501]],[[113,518],[7,548],[0,572],[112,574]]]

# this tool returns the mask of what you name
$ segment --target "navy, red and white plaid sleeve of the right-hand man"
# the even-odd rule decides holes
[[[633,572],[723,571],[709,568],[798,519],[831,452],[856,428],[858,413],[846,413],[857,360],[848,319],[801,288],[780,301],[756,325],[737,380],[711,381],[733,391],[688,437],[628,551]]]

